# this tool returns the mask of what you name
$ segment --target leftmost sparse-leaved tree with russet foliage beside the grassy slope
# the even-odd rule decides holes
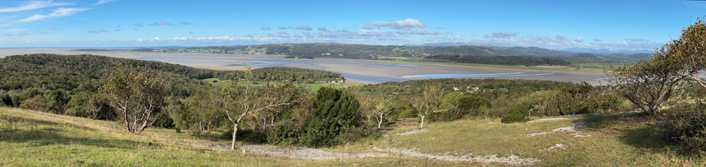
[[[149,75],[146,70],[118,66],[101,87],[111,98],[110,105],[121,111],[128,132],[138,135],[155,123],[164,98],[172,91],[169,78]]]

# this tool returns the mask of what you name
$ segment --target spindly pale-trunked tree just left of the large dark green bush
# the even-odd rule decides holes
[[[246,71],[248,75],[247,84],[245,87],[239,87],[237,82],[223,87],[222,89],[222,106],[228,119],[233,123],[233,142],[232,150],[235,149],[235,140],[237,137],[238,126],[243,123],[246,118],[257,118],[263,112],[279,112],[282,106],[291,104],[293,94],[286,93],[287,89],[282,89],[286,84],[276,87],[265,87],[256,89],[251,86],[252,71],[250,68]]]

